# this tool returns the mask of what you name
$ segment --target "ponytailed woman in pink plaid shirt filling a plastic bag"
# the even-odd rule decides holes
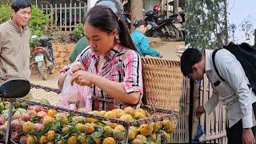
[[[84,19],[84,32],[90,46],[74,62],[71,83],[90,86],[93,97],[114,98],[132,105],[141,102],[141,58],[122,20],[110,8],[94,6]],[[60,87],[67,75],[63,71],[58,82]],[[95,103],[96,110],[114,108],[114,105]]]

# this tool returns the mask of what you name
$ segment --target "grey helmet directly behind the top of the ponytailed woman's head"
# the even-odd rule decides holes
[[[118,18],[122,18],[122,4],[115,0],[98,0],[95,6],[102,5],[109,7]]]

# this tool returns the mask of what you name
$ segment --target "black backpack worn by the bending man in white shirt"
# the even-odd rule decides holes
[[[233,42],[230,42],[228,46],[223,46],[224,49],[229,50],[230,53],[234,54],[235,58],[241,63],[243,70],[246,73],[246,77],[249,79],[250,87],[256,94],[256,50],[253,46],[250,46],[248,43],[242,43],[241,45],[236,45]],[[214,63],[214,69],[218,74],[219,78],[225,82],[225,79],[219,74],[218,69],[215,65],[214,57],[218,50],[214,50],[212,58]]]

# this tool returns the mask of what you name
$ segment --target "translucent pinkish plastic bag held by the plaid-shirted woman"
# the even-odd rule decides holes
[[[68,72],[69,73],[69,72]],[[91,90],[88,86],[71,85],[71,76],[67,74],[63,87],[59,106],[69,110],[91,111]]]

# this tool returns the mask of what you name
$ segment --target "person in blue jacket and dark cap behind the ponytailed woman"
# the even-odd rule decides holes
[[[148,22],[144,20],[139,20],[138,22],[134,23],[135,30],[132,34],[130,34],[130,37],[133,39],[134,44],[138,50],[138,54],[142,57],[145,57],[146,55],[150,55],[153,57],[159,57],[162,58],[162,54],[158,52],[158,50],[154,50],[150,47],[150,44],[146,38]]]

